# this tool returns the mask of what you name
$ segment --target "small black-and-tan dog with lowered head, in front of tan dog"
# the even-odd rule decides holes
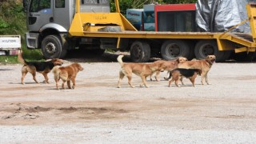
[[[172,79],[169,79],[169,87],[171,86],[171,82],[175,81],[175,85],[179,87],[178,80],[182,77],[186,77],[190,79],[190,82],[192,82],[192,86],[194,85],[194,80],[197,77],[197,75],[202,74],[202,70],[199,69],[182,69],[177,68],[170,72]]]

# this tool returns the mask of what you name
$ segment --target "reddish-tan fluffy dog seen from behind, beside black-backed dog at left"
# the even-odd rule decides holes
[[[54,73],[54,80],[56,82],[56,88],[59,90],[58,82],[60,79],[62,79],[62,89],[65,89],[65,86],[64,86],[65,82],[67,82],[67,86],[69,87],[69,89],[71,89],[70,81],[73,82],[72,89],[74,89],[75,78],[78,72],[82,70],[83,70],[82,66],[78,63],[73,63],[69,66],[62,66],[62,67],[55,66],[53,69],[53,73]]]

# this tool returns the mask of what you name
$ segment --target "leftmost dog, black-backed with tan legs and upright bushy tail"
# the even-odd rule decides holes
[[[58,58],[54,58],[46,62],[26,62],[26,60],[22,58],[22,51],[18,53],[18,61],[24,64],[24,66],[22,66],[22,84],[23,85],[25,84],[24,78],[28,72],[30,72],[30,74],[33,75],[34,82],[38,83],[37,79],[35,78],[36,72],[38,72],[44,76],[45,78],[44,82],[49,83],[48,82],[49,78],[47,74],[50,73],[50,70],[52,70],[54,66],[62,66],[63,64],[63,60]]]

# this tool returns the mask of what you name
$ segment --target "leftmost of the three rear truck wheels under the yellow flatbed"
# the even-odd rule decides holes
[[[146,42],[136,41],[130,46],[132,62],[148,62],[150,60],[150,45]]]

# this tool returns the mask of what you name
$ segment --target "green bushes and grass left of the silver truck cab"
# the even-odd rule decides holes
[[[22,38],[23,57],[28,61],[42,60],[41,50],[27,50],[25,45],[26,13],[20,1],[0,0],[0,34],[18,34]],[[1,56],[0,63],[15,63],[17,56]]]

